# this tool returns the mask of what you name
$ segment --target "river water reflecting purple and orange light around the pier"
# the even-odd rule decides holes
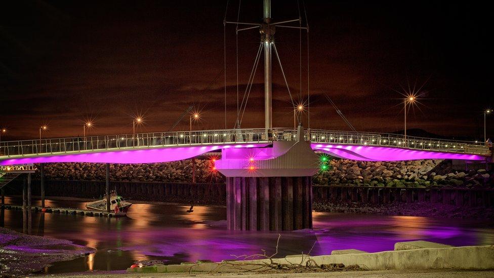
[[[18,198],[6,198],[19,204]],[[47,200],[51,207],[85,208],[85,202]],[[34,201],[33,205],[39,205]],[[95,254],[55,263],[47,273],[125,270],[137,260],[168,263],[221,261],[231,255],[275,252],[278,232],[228,231],[222,207],[134,204],[128,217],[85,217],[32,213],[31,234],[67,239],[97,249]],[[5,210],[1,225],[23,232],[22,211]],[[314,230],[281,232],[278,256],[330,254],[332,250],[392,250],[396,242],[427,240],[454,246],[494,244],[492,221],[411,216],[313,213]]]

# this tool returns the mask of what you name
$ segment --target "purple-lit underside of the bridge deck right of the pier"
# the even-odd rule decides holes
[[[392,147],[355,146],[335,144],[311,144],[312,149],[332,156],[359,161],[403,161],[425,159],[451,159],[485,161],[486,156],[466,153],[450,153]]]

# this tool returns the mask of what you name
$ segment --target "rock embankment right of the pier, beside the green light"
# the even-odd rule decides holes
[[[314,177],[317,185],[381,187],[492,187],[492,171],[456,171],[451,161],[418,160],[398,162],[330,161],[330,170]]]

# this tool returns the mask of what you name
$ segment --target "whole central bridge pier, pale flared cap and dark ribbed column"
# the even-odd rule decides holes
[[[311,179],[319,157],[305,141],[302,126],[294,141],[223,149],[215,166],[227,178],[228,229],[312,228]]]

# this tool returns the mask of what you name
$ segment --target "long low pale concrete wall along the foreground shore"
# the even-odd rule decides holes
[[[359,251],[359,250],[357,250]],[[362,251],[360,251],[362,252]],[[494,269],[494,245],[464,246],[449,248],[421,248],[377,253],[351,253],[323,256],[287,256],[273,259],[279,264],[305,264],[309,259],[318,265],[342,263],[345,266],[358,265],[367,270],[386,269]],[[302,260],[302,262],[301,262]],[[263,270],[269,260],[231,261],[223,263],[201,263],[193,265],[155,265],[129,268],[127,272],[244,272]],[[261,267],[260,267],[261,266]],[[144,269],[145,268],[145,269]],[[267,270],[268,268],[266,268]]]

